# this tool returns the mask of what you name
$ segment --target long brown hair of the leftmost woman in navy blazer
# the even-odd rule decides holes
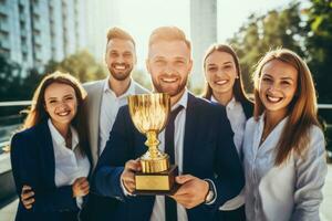
[[[86,136],[87,123],[86,115],[83,108],[86,92],[82,87],[81,83],[69,73],[54,72],[52,74],[46,75],[42,82],[39,84],[35,90],[32,98],[31,108],[28,112],[28,116],[24,120],[23,128],[28,129],[33,127],[42,122],[46,120],[50,116],[45,110],[45,90],[53,83],[65,84],[75,91],[76,99],[77,99],[77,113],[74,116],[71,125],[77,130],[79,139],[80,139],[80,151],[82,155],[85,155],[89,151],[89,143]]]

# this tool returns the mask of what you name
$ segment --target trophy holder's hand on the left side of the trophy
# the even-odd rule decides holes
[[[121,175],[121,180],[124,185],[124,188],[129,192],[133,193],[135,190],[135,172],[141,171],[141,162],[138,159],[129,160],[126,162],[125,168]]]

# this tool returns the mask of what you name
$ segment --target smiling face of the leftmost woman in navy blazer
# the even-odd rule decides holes
[[[44,94],[45,110],[55,127],[68,126],[76,115],[77,98],[72,86],[52,83]]]

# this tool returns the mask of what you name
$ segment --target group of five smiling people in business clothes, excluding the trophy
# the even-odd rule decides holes
[[[290,50],[267,52],[251,101],[236,52],[214,44],[203,61],[206,91],[197,97],[186,87],[191,44],[175,27],[152,32],[146,67],[153,92],[170,96],[174,134],[158,138],[178,166],[179,188],[135,194],[147,148],[126,97],[149,93],[131,77],[135,46],[113,28],[105,80],[81,85],[55,72],[40,83],[11,140],[17,220],[320,220],[325,144],[307,64]]]

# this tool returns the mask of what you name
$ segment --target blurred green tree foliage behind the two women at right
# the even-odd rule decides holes
[[[332,2],[309,0],[308,3],[303,9],[300,1],[292,1],[263,15],[253,13],[228,40],[240,57],[247,92],[252,92],[251,75],[259,59],[271,49],[287,48],[308,62],[319,103],[332,103]]]

